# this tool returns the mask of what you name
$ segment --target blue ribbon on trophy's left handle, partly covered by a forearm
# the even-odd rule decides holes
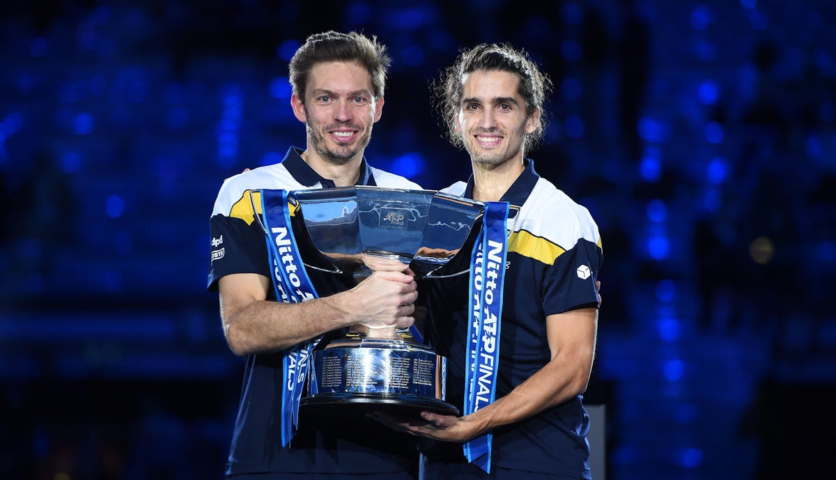
[[[273,289],[276,299],[292,304],[318,298],[314,284],[308,278],[290,227],[288,191],[262,190],[263,225],[266,232],[268,256],[273,266]],[[310,355],[322,336],[307,340],[284,350],[282,361],[282,447],[286,447],[296,433],[299,419],[299,399],[308,375]]]

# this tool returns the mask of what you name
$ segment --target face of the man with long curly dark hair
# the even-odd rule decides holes
[[[523,161],[525,135],[532,133],[538,112],[527,117],[518,93],[519,77],[501,70],[476,70],[463,78],[457,130],[474,163],[500,166]]]

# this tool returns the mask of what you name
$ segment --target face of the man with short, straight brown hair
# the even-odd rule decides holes
[[[316,64],[308,75],[305,101],[295,95],[293,114],[305,122],[308,156],[344,165],[361,158],[380,120],[383,98],[375,101],[369,72],[360,64]]]

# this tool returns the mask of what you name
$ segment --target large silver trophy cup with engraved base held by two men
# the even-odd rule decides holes
[[[482,202],[437,191],[375,186],[291,191],[288,202],[293,235],[319,296],[349,289],[382,263],[409,264],[416,279],[469,273],[484,209]],[[324,340],[312,355],[300,405],[457,415],[444,401],[446,359],[423,343],[418,312],[425,306],[415,308],[410,329],[358,324]]]

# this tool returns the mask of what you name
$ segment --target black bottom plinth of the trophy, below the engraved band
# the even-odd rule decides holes
[[[459,415],[459,409],[446,401],[420,396],[381,396],[370,394],[326,394],[304,397],[299,406],[324,415],[344,416],[346,410],[359,414],[384,411],[398,416],[418,416],[421,411]]]

